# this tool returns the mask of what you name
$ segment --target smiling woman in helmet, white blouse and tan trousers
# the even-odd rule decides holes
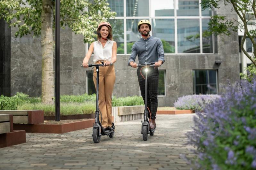
[[[104,67],[99,71],[99,109],[102,113],[103,128],[111,129],[112,126],[112,92],[116,79],[115,68],[112,65],[116,62],[117,44],[112,41],[112,27],[108,22],[102,22],[97,29],[98,41],[93,42],[83,60],[83,66],[88,67],[88,61],[94,53],[93,62]],[[94,84],[96,87],[96,70],[94,69]]]

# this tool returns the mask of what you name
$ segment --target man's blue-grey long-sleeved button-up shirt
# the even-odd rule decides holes
[[[157,37],[150,36],[148,39],[141,38],[135,42],[132,46],[128,66],[130,66],[131,61],[135,62],[137,55],[139,64],[157,62],[159,60],[164,63],[164,51],[161,40]]]

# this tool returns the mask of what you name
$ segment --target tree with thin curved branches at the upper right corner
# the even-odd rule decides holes
[[[250,25],[252,21],[256,18],[256,9],[255,9],[256,0],[222,0],[224,5],[231,5],[232,11],[235,11],[238,15],[238,20],[227,20],[226,16],[214,15],[211,17],[209,22],[209,30],[215,35],[231,35],[231,31],[244,30],[244,36],[241,41],[241,50],[244,54],[252,61],[253,65],[256,67],[256,29],[252,28]],[[202,0],[201,5],[202,9],[210,8],[212,11],[220,8],[220,0]],[[238,23],[238,26],[237,26]],[[253,55],[250,56],[244,49],[244,42],[246,37],[252,41],[254,48]]]

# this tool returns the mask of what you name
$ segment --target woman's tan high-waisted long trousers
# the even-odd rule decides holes
[[[95,64],[100,64],[101,61],[97,61]],[[96,68],[93,73],[93,81],[96,89]],[[99,68],[99,109],[102,113],[102,119],[100,115],[100,121],[102,120],[102,126],[107,128],[112,126],[112,93],[116,80],[114,66],[100,66]]]

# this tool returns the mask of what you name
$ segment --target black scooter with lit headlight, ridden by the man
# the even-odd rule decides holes
[[[147,110],[147,90],[148,90],[148,88],[147,88],[147,82],[148,82],[148,80],[147,80],[147,67],[148,66],[151,66],[151,67],[156,67],[155,65],[154,65],[154,63],[152,62],[152,63],[149,63],[149,64],[144,64],[144,65],[141,65],[141,64],[139,64],[139,65],[137,65],[137,67],[139,67],[139,66],[145,66],[146,68],[145,68],[145,72],[146,72],[146,75],[145,75],[145,109],[144,109],[144,121],[141,121],[141,123],[142,123],[142,126],[141,126],[141,134],[142,134],[142,138],[143,138],[143,140],[144,141],[146,141],[146,140],[148,140],[148,134],[150,134],[151,136],[153,136],[154,135],[154,132],[155,132],[155,128],[154,129],[151,129],[150,128],[150,126],[149,126],[149,120],[148,120],[148,110]]]

